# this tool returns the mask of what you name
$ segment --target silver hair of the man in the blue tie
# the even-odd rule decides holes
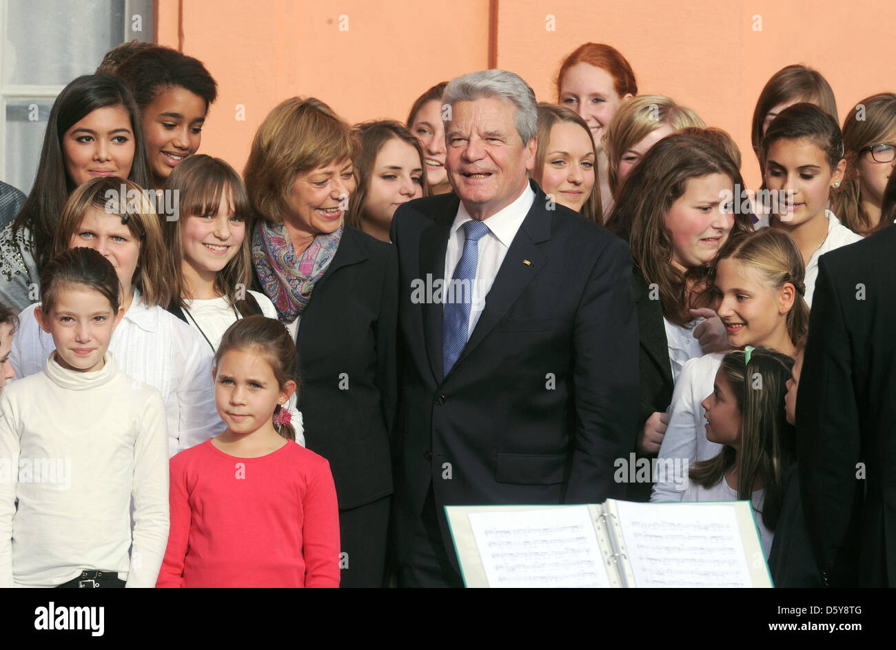
[[[538,102],[535,92],[522,81],[519,74],[506,70],[480,70],[454,77],[442,95],[442,104],[453,105],[457,101],[497,98],[507,100],[516,107],[513,125],[525,146],[538,130]]]

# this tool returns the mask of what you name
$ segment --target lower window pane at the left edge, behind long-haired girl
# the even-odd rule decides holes
[[[6,173],[4,181],[25,194],[38,170],[40,147],[53,100],[9,100],[6,104]],[[37,117],[37,119],[33,119]]]

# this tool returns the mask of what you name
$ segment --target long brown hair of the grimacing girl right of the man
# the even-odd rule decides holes
[[[644,279],[657,284],[663,316],[675,325],[684,326],[693,320],[687,311],[688,286],[706,288],[711,264],[691,269],[686,277],[672,266],[672,234],[665,224],[666,214],[685,194],[689,180],[711,174],[730,178],[734,193],[744,188],[734,161],[706,138],[667,135],[650,148],[625,179],[619,201],[607,220],[607,229],[632,248],[633,262]],[[734,198],[734,204],[739,204],[739,197]],[[750,230],[750,215],[736,211],[728,237]],[[709,306],[708,291],[701,299]]]

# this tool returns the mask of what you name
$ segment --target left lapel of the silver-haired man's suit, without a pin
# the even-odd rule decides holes
[[[460,201],[456,197],[448,202],[443,212],[435,216],[432,225],[420,235],[420,279],[428,288],[438,280],[444,281],[445,251],[448,247],[448,236]],[[442,383],[442,303],[436,303],[431,295],[423,301],[423,340],[426,342],[426,355],[429,367],[433,371],[435,383]]]

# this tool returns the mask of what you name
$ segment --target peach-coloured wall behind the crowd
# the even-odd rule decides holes
[[[837,96],[840,122],[863,97],[896,90],[893,56],[873,45],[881,42],[875,33],[896,24],[891,0],[855,9],[841,0],[159,0],[157,13],[159,43],[177,48],[182,34],[183,51],[218,80],[202,152],[237,169],[280,100],[314,95],[351,122],[403,120],[433,83],[486,68],[493,33],[496,65],[521,74],[548,101],[556,100],[552,79],[565,54],[587,40],[613,45],[632,63],[641,91],[668,94],[728,130],[754,186],[750,119],[775,71],[791,63],[818,68]],[[347,31],[339,30],[340,14]],[[546,29],[548,14],[556,30]],[[756,14],[762,31],[753,29]],[[246,107],[245,121],[235,119],[237,104]]]

